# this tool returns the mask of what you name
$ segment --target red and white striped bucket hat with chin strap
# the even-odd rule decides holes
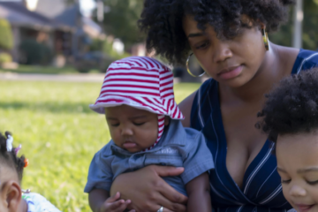
[[[105,108],[122,104],[158,114],[157,141],[163,133],[164,116],[184,119],[174,100],[172,72],[151,57],[126,57],[110,64],[101,93],[89,108],[104,114]]]

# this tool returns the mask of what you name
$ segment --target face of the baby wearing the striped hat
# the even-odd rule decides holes
[[[158,136],[158,116],[127,105],[105,109],[110,136],[120,148],[140,152],[151,147]]]

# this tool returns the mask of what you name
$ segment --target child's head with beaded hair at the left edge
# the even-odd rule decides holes
[[[21,201],[20,183],[25,166],[24,156],[18,157],[19,148],[12,148],[11,134],[0,133],[0,211],[16,212]]]

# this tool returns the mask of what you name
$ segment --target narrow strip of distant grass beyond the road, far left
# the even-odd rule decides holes
[[[63,74],[77,73],[78,71],[73,67],[56,68],[52,66],[19,64],[19,67],[17,69],[3,69],[0,67],[0,72]]]

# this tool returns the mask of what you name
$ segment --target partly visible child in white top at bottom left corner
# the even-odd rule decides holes
[[[1,212],[60,212],[42,195],[23,193],[21,180],[27,159],[18,156],[19,148],[12,147],[13,138],[0,133],[0,211]]]

